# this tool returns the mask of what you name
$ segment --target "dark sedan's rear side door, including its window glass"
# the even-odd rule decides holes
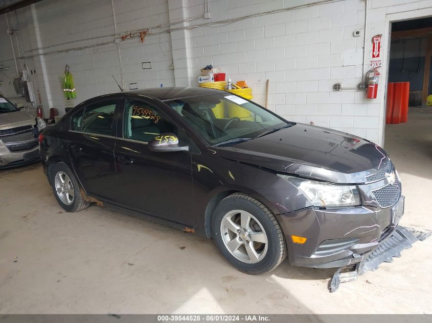
[[[116,202],[117,113],[121,100],[89,103],[71,116],[67,148],[81,185],[90,196]]]

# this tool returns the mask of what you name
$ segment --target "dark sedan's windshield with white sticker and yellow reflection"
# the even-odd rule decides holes
[[[241,142],[233,139],[253,139],[270,130],[293,123],[269,113],[266,109],[226,94],[180,98],[165,102],[183,116],[211,145]]]

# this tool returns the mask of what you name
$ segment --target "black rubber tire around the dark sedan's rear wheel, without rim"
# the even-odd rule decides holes
[[[73,189],[74,189],[74,197],[72,204],[67,205],[61,201],[59,195],[57,194],[56,189],[56,175],[59,172],[65,173],[71,180]],[[89,203],[84,201],[84,198],[81,196],[80,193],[80,186],[75,178],[74,173],[71,171],[69,167],[65,163],[56,163],[54,164],[50,169],[50,179],[51,179],[51,187],[53,189],[54,196],[56,197],[56,200],[58,204],[67,212],[78,212],[81,210],[84,210],[86,207],[88,207]]]

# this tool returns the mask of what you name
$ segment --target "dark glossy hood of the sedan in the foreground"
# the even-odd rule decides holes
[[[366,176],[389,159],[380,146],[366,139],[302,123],[218,147],[218,152],[226,159],[334,183],[365,183]]]

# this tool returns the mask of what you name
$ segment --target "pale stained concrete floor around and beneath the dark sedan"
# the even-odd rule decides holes
[[[401,223],[424,229],[428,111],[412,109],[385,138],[406,195]],[[333,269],[285,261],[250,276],[212,240],[97,206],[65,213],[39,164],[1,171],[0,187],[0,313],[432,313],[432,238],[329,293]]]

